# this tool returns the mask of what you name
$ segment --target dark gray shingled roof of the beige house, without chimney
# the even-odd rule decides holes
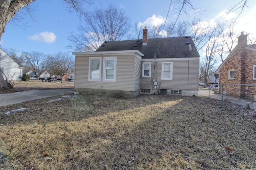
[[[192,46],[190,52],[188,52],[189,45],[187,43]],[[96,51],[123,50],[138,50],[144,54],[144,59],[154,58],[154,54],[156,54],[156,58],[182,58],[188,57],[188,54],[189,57],[200,57],[190,36],[148,39],[147,45],[142,45],[142,39],[108,41],[103,43]]]

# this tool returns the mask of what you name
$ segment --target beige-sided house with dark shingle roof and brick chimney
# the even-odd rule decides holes
[[[190,36],[104,42],[75,55],[75,91],[134,97],[138,94],[197,96],[198,51]]]

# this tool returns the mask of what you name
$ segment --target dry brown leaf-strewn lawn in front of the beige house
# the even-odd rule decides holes
[[[199,97],[56,96],[0,107],[0,152],[13,170],[253,170],[256,112]]]

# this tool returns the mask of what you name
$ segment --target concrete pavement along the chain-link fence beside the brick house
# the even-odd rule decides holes
[[[222,100],[221,94],[214,94],[213,90],[208,90],[208,89],[199,89],[198,97]],[[223,95],[223,100],[227,100],[231,103],[238,104],[243,107],[247,107],[249,105],[251,109],[256,110],[256,102],[254,103],[251,100],[236,98],[234,96],[228,96],[228,95]]]

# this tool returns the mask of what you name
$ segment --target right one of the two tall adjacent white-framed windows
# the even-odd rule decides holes
[[[103,81],[116,81],[116,57],[103,57]]]

